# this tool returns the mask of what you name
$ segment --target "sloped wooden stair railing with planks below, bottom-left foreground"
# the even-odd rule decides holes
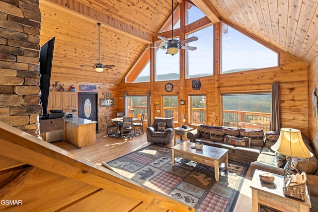
[[[1,204],[0,211],[194,212],[170,196],[3,122],[0,145],[0,199],[16,201]]]

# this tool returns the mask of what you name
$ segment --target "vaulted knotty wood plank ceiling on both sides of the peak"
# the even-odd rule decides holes
[[[213,22],[237,25],[307,64],[318,56],[318,0],[192,2]],[[118,84],[166,21],[171,0],[40,0],[40,9],[41,45],[56,37],[55,77]],[[97,22],[100,63],[116,66],[101,73],[80,67],[98,63]]]

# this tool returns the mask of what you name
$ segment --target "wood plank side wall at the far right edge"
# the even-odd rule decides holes
[[[314,117],[312,103],[313,89],[314,87],[318,89],[318,57],[309,66],[308,73],[309,140],[312,142],[316,155],[318,155],[318,117]],[[316,95],[318,95],[318,91],[316,91]]]

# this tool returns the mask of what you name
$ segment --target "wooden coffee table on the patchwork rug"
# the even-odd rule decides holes
[[[215,180],[219,181],[219,166],[224,162],[225,168],[228,169],[228,149],[203,145],[203,148],[200,150],[191,148],[192,144],[195,143],[183,141],[171,147],[172,166],[174,166],[175,156],[212,166],[214,167]]]

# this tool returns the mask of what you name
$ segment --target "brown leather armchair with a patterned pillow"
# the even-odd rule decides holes
[[[155,117],[152,127],[148,127],[146,132],[148,142],[170,143],[173,137],[173,118]]]

